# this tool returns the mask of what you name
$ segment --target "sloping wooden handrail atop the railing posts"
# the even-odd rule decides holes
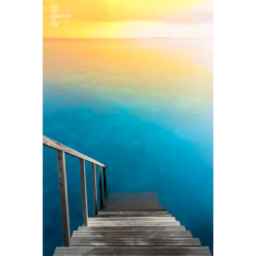
[[[106,168],[108,169],[108,166],[102,164],[102,163],[99,163],[98,161],[88,157],[88,156],[85,156],[79,152],[77,152],[76,150],[72,149],[72,148],[69,148],[61,143],[58,143],[57,141],[54,141],[50,138],[47,138],[46,136],[42,135],[42,145],[45,146],[45,147],[49,147],[49,148],[52,148],[52,149],[56,149],[56,150],[61,150],[61,151],[64,151],[66,154],[70,155],[70,156],[74,156],[74,157],[77,157],[79,159],[84,159],[86,162],[89,162],[89,163],[94,163],[94,164],[97,164],[98,166],[102,166],[103,168]]]

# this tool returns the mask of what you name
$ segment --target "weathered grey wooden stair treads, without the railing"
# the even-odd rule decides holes
[[[98,209],[98,214],[88,219],[88,227],[73,232],[71,247],[56,248],[54,256],[211,255],[208,247],[157,202],[148,205],[146,198],[145,205],[131,205],[131,198],[126,201],[129,205]]]

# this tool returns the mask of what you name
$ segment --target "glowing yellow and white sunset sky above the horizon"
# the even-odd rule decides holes
[[[214,1],[43,0],[42,37],[213,38]]]

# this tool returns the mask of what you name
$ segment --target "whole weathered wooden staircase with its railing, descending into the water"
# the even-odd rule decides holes
[[[209,256],[198,238],[160,205],[155,192],[106,193],[108,166],[57,141],[42,136],[42,145],[57,152],[64,247],[54,256],[183,255]],[[79,159],[83,227],[70,237],[65,154]],[[84,161],[92,163],[94,213],[88,218]],[[99,171],[100,207],[97,204],[96,166]],[[103,169],[103,170],[102,170]],[[102,188],[102,171],[104,195]]]

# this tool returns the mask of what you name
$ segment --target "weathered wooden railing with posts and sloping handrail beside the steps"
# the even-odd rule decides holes
[[[60,200],[61,200],[61,216],[62,216],[62,227],[63,227],[63,239],[64,246],[70,247],[70,225],[69,225],[69,213],[68,213],[68,191],[67,191],[67,176],[66,176],[66,164],[65,154],[77,157],[80,163],[80,175],[81,175],[81,188],[82,188],[82,205],[83,205],[83,222],[84,227],[88,226],[88,209],[87,209],[87,195],[86,195],[86,177],[85,177],[85,165],[84,161],[92,163],[92,184],[93,184],[93,203],[94,203],[94,214],[98,214],[97,206],[97,184],[96,184],[96,165],[99,170],[99,187],[100,187],[100,208],[103,209],[103,191],[102,191],[102,173],[103,168],[104,175],[104,192],[106,196],[106,169],[108,166],[95,161],[94,159],[84,156],[83,154],[68,148],[57,141],[51,140],[50,138],[42,136],[42,145],[55,149],[57,151],[58,161],[58,174],[60,184]]]

